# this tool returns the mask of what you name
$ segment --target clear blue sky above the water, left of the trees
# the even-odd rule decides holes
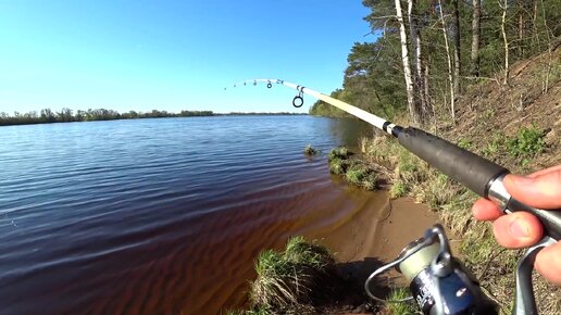
[[[286,87],[232,86],[331,92],[352,43],[374,39],[367,13],[361,0],[0,0],[0,112],[295,111]]]

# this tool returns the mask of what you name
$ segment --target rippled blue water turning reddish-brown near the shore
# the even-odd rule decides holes
[[[0,314],[239,305],[259,251],[326,235],[372,198],[326,163],[370,133],[312,116],[1,127]]]

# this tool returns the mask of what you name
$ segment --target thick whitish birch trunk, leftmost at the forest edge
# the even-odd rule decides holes
[[[409,108],[409,115],[411,117],[411,123],[417,125],[419,117],[416,113],[416,98],[413,87],[413,80],[411,77],[411,66],[409,63],[409,48],[407,46],[407,33],[406,33],[406,24],[403,23],[403,14],[401,10],[400,0],[395,0],[396,2],[396,15],[399,22],[399,37],[401,42],[401,62],[403,63],[403,76],[406,78],[406,90],[407,90],[407,103]]]

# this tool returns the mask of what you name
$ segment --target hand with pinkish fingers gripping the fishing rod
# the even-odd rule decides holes
[[[503,182],[507,191],[524,204],[545,210],[561,209],[561,165],[525,177],[509,174]],[[472,213],[476,219],[493,220],[495,238],[509,249],[531,247],[544,235],[544,228],[534,215],[522,211],[503,215],[487,199],[477,200]],[[561,242],[543,249],[534,266],[546,279],[561,286]]]

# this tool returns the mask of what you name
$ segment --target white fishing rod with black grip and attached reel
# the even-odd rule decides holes
[[[286,80],[250,79],[241,84],[247,85],[248,83],[253,84],[253,86],[257,86],[258,83],[266,83],[267,88],[277,84],[297,90],[298,94],[292,99],[295,108],[303,105],[304,93],[322,100],[397,138],[398,142],[410,152],[478,196],[495,202],[503,213],[526,211],[534,214],[541,222],[545,236],[537,244],[527,249],[519,260],[515,273],[516,294],[513,314],[537,314],[532,285],[534,261],[541,249],[557,243],[561,238],[561,210],[541,210],[518,201],[504,188],[503,180],[510,173],[509,169],[435,135],[414,127],[398,126],[327,94]],[[402,272],[411,281],[414,299],[425,314],[435,314],[431,312],[433,307],[436,307],[433,310],[436,310],[436,314],[466,314],[461,312],[467,310],[465,307],[473,306],[466,306],[470,304],[466,301],[472,301],[472,304],[475,303],[474,310],[478,310],[478,313],[470,314],[489,314],[489,308],[482,306],[488,305],[488,303],[478,290],[477,282],[470,277],[458,260],[451,256],[448,240],[439,225],[427,229],[422,238],[403,249],[396,261],[378,268],[369,277],[365,289],[371,298],[379,300],[370,292],[370,281],[390,267],[396,267]],[[453,291],[454,298],[448,297],[450,294],[447,294],[444,288],[460,289]],[[451,306],[458,306],[460,313],[450,311]]]

